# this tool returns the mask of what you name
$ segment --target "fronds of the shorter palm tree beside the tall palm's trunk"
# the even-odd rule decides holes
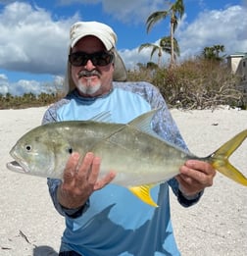
[[[154,53],[158,52],[158,67],[161,68],[161,59],[162,59],[162,53],[166,52],[169,54],[172,54],[172,43],[171,43],[171,37],[165,36],[160,39],[159,44],[155,43],[143,43],[139,46],[138,52],[143,50],[144,48],[152,48],[151,54],[150,54],[150,60],[152,59]],[[174,56],[179,56],[180,51],[177,44],[177,41],[175,38],[173,38],[173,45],[174,45]]]

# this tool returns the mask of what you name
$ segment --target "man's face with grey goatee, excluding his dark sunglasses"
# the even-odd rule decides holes
[[[83,52],[93,54],[106,52],[104,44],[95,36],[81,38],[72,49],[72,53]],[[72,65],[72,78],[74,84],[82,96],[99,96],[108,93],[112,88],[114,65],[94,65],[89,59],[85,65],[75,67]]]

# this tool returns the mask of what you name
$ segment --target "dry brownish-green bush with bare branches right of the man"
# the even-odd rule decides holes
[[[217,60],[198,57],[173,69],[159,69],[155,65],[138,66],[139,71],[128,72],[128,79],[153,83],[172,108],[247,107],[247,95],[238,88],[240,78],[232,75],[226,64]]]

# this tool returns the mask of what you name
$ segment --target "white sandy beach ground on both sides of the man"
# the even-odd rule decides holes
[[[0,110],[0,255],[57,255],[64,219],[49,198],[46,179],[12,173],[9,150],[30,128],[38,126],[46,108]],[[247,128],[247,111],[219,109],[181,112],[173,118],[191,152],[206,156],[237,132]],[[247,176],[247,141],[232,162]],[[171,193],[172,194],[172,193]],[[176,203],[173,195],[173,229],[184,256],[244,256],[247,252],[247,187],[221,174],[191,208]],[[52,249],[51,249],[52,250]]]

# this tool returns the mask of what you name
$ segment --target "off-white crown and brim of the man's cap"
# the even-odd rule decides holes
[[[105,24],[97,22],[79,22],[71,28],[71,47],[73,48],[76,42],[86,35],[93,35],[99,38],[106,49],[109,51],[116,48],[117,35],[114,30]]]

